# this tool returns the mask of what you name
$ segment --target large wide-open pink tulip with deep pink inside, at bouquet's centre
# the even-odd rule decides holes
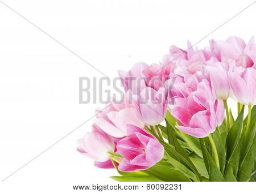
[[[216,130],[224,120],[223,101],[215,100],[207,80],[197,85],[187,98],[176,98],[172,116],[180,123],[180,131],[196,138],[204,138]]]

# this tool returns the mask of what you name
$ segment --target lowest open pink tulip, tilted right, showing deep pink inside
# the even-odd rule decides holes
[[[129,126],[127,137],[117,143],[117,152],[123,157],[120,171],[145,170],[162,160],[163,145],[151,134],[136,126]]]

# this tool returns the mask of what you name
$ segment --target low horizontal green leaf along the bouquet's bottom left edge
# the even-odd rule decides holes
[[[160,179],[151,177],[150,175],[112,176],[110,178],[118,182],[162,182]]]

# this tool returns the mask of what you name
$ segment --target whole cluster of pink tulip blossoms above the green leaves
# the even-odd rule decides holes
[[[150,66],[136,63],[128,72],[119,70],[118,74],[125,89],[123,100],[97,109],[92,132],[78,141],[77,150],[100,168],[147,171],[166,159],[165,143],[170,139],[160,123],[167,114],[175,120],[177,135],[212,139],[218,126],[225,125],[227,132],[232,126],[229,97],[238,102],[238,113],[247,105],[250,115],[256,104],[254,38],[247,44],[234,36],[226,41],[210,40],[204,49],[194,49],[190,42],[187,50],[171,46],[162,62]],[[254,119],[249,115],[247,127]]]

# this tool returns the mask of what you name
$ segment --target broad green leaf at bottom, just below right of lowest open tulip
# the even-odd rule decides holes
[[[151,168],[144,170],[147,174],[154,178],[158,178],[164,182],[189,182],[189,178],[186,177],[181,171],[176,170],[169,162],[160,161]]]

